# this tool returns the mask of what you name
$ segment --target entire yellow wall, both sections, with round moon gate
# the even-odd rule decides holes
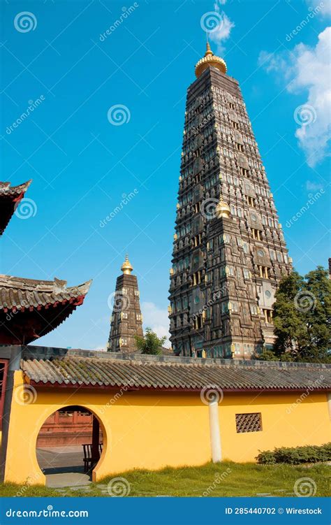
[[[36,389],[22,401],[22,372],[15,372],[6,481],[45,483],[36,461],[36,439],[55,410],[82,405],[103,429],[103,455],[94,480],[131,468],[200,465],[211,460],[209,408],[198,392],[177,394],[103,389]],[[32,391],[33,394],[33,391]],[[258,450],[319,445],[330,439],[326,394],[309,394],[288,414],[299,394],[225,394],[219,405],[223,459],[253,461]],[[287,410],[286,410],[287,409]],[[237,434],[235,413],[262,412],[263,431]]]

